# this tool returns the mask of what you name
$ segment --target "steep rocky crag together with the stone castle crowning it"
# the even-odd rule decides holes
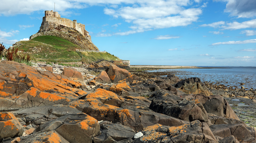
[[[46,14],[47,11],[45,11],[40,30],[32,35],[30,40],[38,36],[52,35],[69,40],[82,49],[98,50],[93,44],[91,36],[85,30],[84,24],[77,23],[76,20],[71,21],[66,18],[61,18],[60,15],[59,17],[55,17]]]

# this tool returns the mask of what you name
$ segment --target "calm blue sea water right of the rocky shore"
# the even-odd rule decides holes
[[[219,82],[233,87],[256,89],[256,67],[217,67],[213,69],[160,69],[148,72],[167,71],[180,79],[199,77],[201,81]]]

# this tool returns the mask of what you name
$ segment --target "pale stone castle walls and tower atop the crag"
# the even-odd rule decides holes
[[[53,10],[46,10],[45,11],[45,16],[43,17],[43,23],[51,22],[59,25],[63,25],[66,27],[74,28],[78,32],[80,32],[83,36],[85,37],[90,37],[89,32],[85,30],[85,25],[77,23],[76,20],[71,21],[70,19],[66,18],[61,18],[58,12],[55,12]]]

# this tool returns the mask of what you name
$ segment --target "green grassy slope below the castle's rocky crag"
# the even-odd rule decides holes
[[[15,43],[14,47],[17,47],[20,51],[29,53],[32,59],[41,61],[56,61],[72,60],[72,61],[84,61],[86,63],[96,62],[100,60],[107,61],[120,61],[120,59],[109,53],[97,53],[97,52],[82,52],[81,56],[76,52],[76,49],[81,49],[78,45],[56,37],[56,36],[39,36],[29,41],[19,41]]]

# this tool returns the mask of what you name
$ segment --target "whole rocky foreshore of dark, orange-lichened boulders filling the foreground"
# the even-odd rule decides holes
[[[241,120],[255,116],[254,89],[128,70],[1,61],[0,141],[256,142],[253,120]]]

